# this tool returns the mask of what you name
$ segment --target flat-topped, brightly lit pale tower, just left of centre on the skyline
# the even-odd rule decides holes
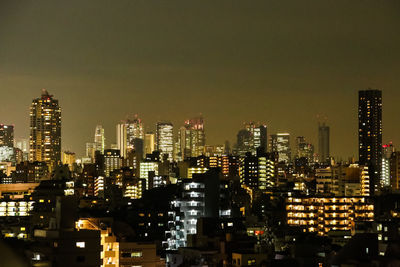
[[[170,122],[157,122],[157,150],[161,155],[167,154],[168,160],[173,160],[174,153],[174,127]]]

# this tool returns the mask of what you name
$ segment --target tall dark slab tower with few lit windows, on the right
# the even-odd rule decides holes
[[[358,92],[359,164],[368,166],[371,195],[381,187],[382,91]]]

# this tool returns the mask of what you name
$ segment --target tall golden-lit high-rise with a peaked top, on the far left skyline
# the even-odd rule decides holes
[[[61,108],[45,89],[30,109],[30,161],[43,161],[49,170],[61,161]]]

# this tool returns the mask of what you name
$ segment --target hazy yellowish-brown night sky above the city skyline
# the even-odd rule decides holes
[[[0,0],[0,122],[29,136],[46,88],[62,108],[63,149],[106,144],[139,114],[176,129],[202,113],[208,144],[244,121],[304,135],[318,116],[331,154],[357,156],[357,91],[383,90],[384,142],[399,147],[400,1]]]

